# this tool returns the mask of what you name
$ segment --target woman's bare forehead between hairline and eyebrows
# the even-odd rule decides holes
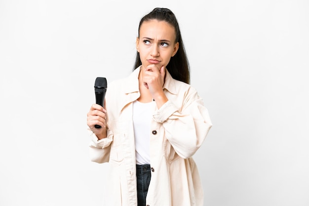
[[[165,21],[144,21],[140,27],[140,37],[175,39],[175,28]]]

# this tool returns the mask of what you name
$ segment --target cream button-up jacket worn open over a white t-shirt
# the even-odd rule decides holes
[[[108,136],[98,140],[91,133],[91,161],[110,164],[103,183],[107,190],[99,193],[104,206],[137,206],[132,102],[140,97],[139,71],[108,85]],[[167,70],[163,89],[169,101],[155,110],[149,131],[152,176],[146,204],[202,206],[203,189],[192,156],[212,126],[208,111],[196,90]]]

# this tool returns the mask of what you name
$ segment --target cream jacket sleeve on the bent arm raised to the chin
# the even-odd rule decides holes
[[[212,127],[208,110],[193,87],[184,94],[181,105],[169,100],[153,118],[163,125],[167,140],[184,159],[194,155]]]

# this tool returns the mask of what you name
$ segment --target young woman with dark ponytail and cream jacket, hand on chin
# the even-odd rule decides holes
[[[192,156],[212,124],[189,85],[171,10],[155,8],[141,19],[136,49],[133,72],[109,84],[106,108],[93,104],[87,114],[91,161],[110,166],[106,190],[98,194],[105,206],[202,206]]]

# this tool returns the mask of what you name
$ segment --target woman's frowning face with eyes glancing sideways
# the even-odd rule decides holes
[[[156,65],[166,67],[177,50],[176,34],[173,26],[165,21],[150,20],[143,22],[139,37],[136,39],[136,49],[140,54],[142,66]]]

